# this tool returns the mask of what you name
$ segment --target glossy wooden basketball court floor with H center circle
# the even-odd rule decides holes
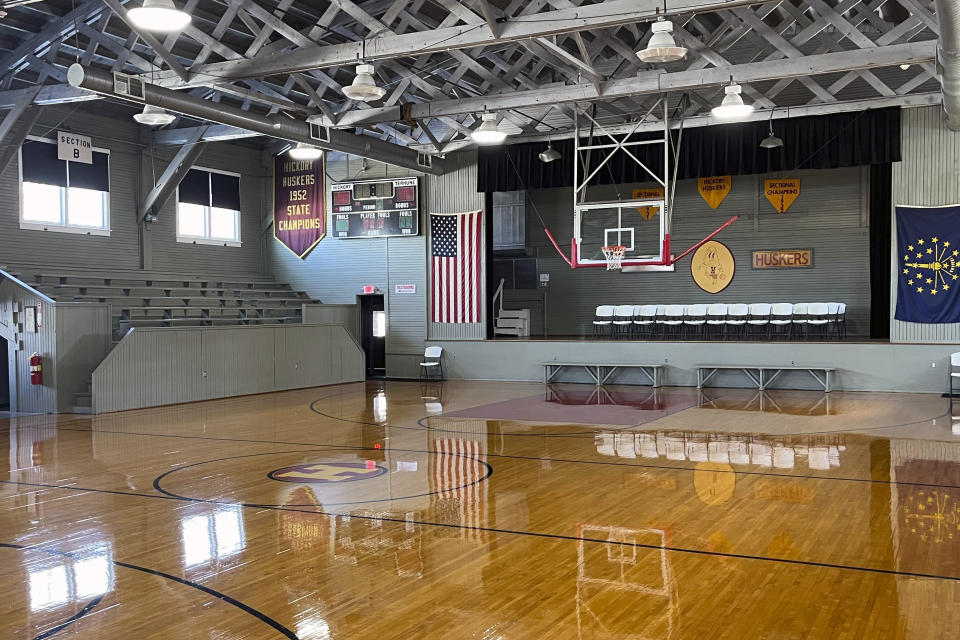
[[[483,382],[0,419],[0,638],[960,638],[955,425]]]

